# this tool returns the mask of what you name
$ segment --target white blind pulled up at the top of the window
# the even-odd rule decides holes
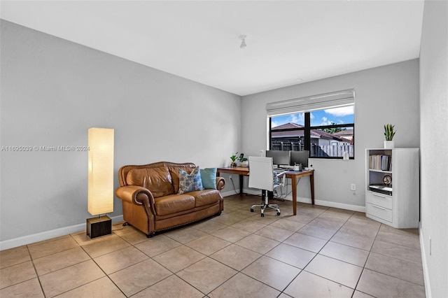
[[[355,103],[355,90],[342,90],[324,94],[287,99],[283,101],[269,102],[266,111],[269,117],[292,113],[311,112],[324,108],[339,108],[351,106]]]

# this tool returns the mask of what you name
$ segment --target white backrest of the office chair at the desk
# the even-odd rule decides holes
[[[272,157],[249,156],[249,187],[274,190]]]

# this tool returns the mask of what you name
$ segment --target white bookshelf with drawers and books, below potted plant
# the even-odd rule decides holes
[[[382,167],[373,162],[381,155]],[[419,227],[419,149],[366,149],[365,169],[367,218],[399,229]],[[386,175],[391,176],[391,185],[384,185]]]

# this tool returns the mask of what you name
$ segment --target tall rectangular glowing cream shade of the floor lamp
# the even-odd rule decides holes
[[[113,129],[90,128],[88,146],[87,210],[92,215],[113,212]]]

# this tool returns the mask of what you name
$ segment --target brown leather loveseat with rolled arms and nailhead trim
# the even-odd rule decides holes
[[[116,195],[123,202],[125,222],[151,237],[164,229],[221,214],[224,178],[215,178],[216,189],[178,193],[179,169],[192,173],[195,168],[193,163],[174,162],[122,166]]]

